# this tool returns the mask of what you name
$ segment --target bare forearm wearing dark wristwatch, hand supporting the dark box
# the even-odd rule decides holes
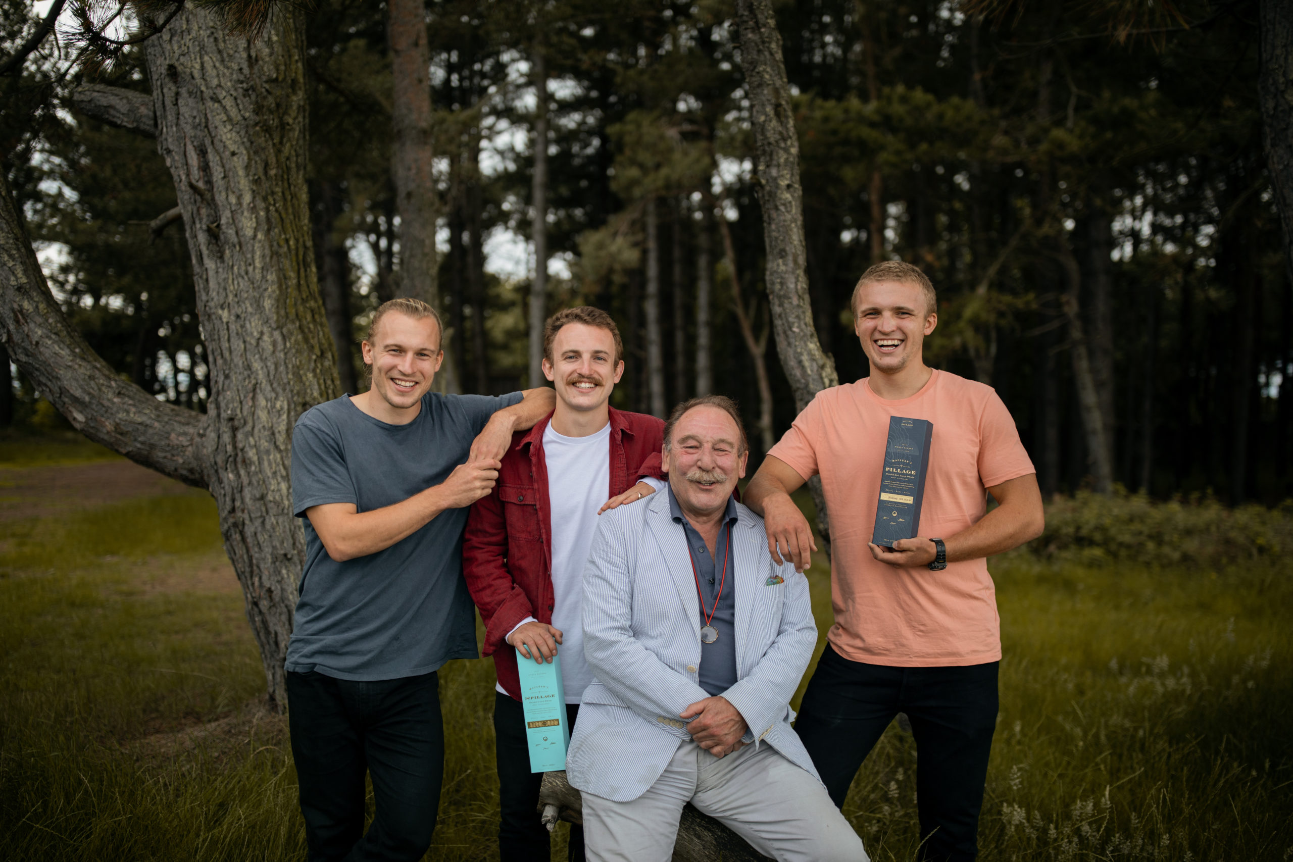
[[[1042,492],[1037,487],[1037,474],[994,485],[988,489],[997,508],[961,532],[940,536],[948,549],[948,562],[990,557],[1031,541],[1046,529]],[[900,539],[893,549],[870,545],[871,556],[891,566],[926,566],[934,562],[934,543],[927,538]]]

